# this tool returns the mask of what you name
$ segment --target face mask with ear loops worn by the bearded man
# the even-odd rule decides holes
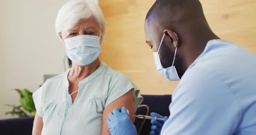
[[[175,34],[175,33],[174,33]],[[176,35],[176,34],[175,34]],[[159,45],[159,48],[158,48],[158,52],[160,50],[160,47],[162,45],[162,42],[164,40],[164,36],[165,34],[163,35],[163,38],[161,40],[161,43]],[[177,35],[176,35],[177,36]],[[177,52],[177,48],[175,49],[175,53],[174,53],[174,59],[173,59],[173,62],[172,62],[172,66],[171,67],[167,67],[167,68],[164,68],[161,64],[161,61],[160,61],[160,58],[159,58],[159,54],[158,52],[153,52],[153,55],[154,55],[154,64],[156,65],[157,67],[157,71],[162,74],[165,78],[167,78],[168,80],[181,80],[180,77],[178,76],[178,73],[176,71],[176,68],[174,65],[174,60],[175,60],[175,56],[176,56],[176,52]]]

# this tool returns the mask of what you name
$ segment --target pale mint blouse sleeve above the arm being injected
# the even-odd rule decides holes
[[[139,94],[140,90],[126,75],[119,73],[113,76],[109,84],[108,98],[106,100],[105,107],[130,90],[133,91],[133,100],[136,109],[143,101],[143,97]]]

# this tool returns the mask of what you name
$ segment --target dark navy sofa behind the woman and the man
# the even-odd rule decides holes
[[[148,105],[149,114],[151,112],[159,113],[163,116],[169,116],[168,106],[171,103],[171,95],[142,95],[144,101],[142,104]],[[147,109],[145,107],[139,107],[136,114],[145,115]],[[34,117],[27,118],[13,118],[0,120],[0,132],[1,135],[31,135],[33,128]],[[135,119],[135,126],[137,130],[141,128],[143,119]],[[151,128],[150,120],[146,120],[141,128],[140,135],[149,135]]]

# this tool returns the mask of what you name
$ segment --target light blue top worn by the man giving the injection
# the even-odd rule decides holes
[[[181,78],[161,135],[256,135],[256,55],[211,40]]]

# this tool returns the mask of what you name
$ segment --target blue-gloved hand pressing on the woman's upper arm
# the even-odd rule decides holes
[[[111,135],[137,135],[136,127],[131,122],[125,107],[113,109],[108,117],[107,123]]]

